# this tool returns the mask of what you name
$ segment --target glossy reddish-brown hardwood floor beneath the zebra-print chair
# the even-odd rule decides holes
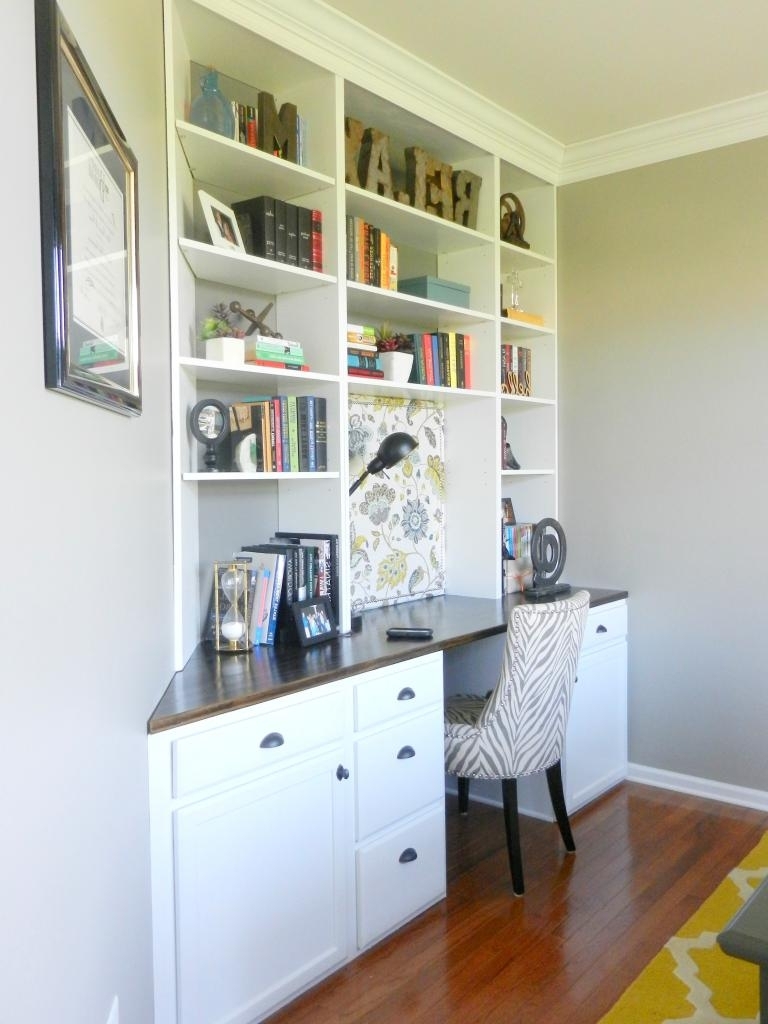
[[[768,814],[626,783],[571,824],[521,819],[515,897],[501,810],[449,798],[447,898],[269,1024],[595,1024]]]

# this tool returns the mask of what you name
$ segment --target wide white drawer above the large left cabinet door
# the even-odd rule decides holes
[[[272,765],[338,739],[344,696],[329,693],[259,712],[254,718],[185,736],[173,743],[173,796]]]

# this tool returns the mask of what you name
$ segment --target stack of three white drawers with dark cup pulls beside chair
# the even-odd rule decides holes
[[[357,945],[445,895],[442,655],[355,685]]]

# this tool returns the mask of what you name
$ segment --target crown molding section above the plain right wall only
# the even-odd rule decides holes
[[[565,146],[558,184],[768,135],[768,92]]]

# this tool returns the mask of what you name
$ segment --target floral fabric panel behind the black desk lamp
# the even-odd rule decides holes
[[[445,590],[443,411],[432,401],[349,396],[349,475],[381,441],[402,430],[419,445],[384,473],[367,477],[350,503],[352,613]]]

